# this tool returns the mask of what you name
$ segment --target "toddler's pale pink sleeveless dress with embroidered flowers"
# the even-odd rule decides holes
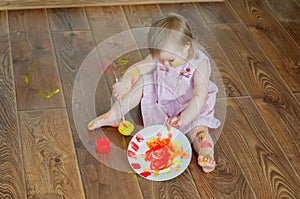
[[[143,75],[144,92],[141,100],[141,110],[144,126],[164,124],[169,117],[178,116],[187,107],[193,97],[193,74],[196,62],[208,57],[198,52],[196,56],[177,67],[166,68],[158,62],[157,69]],[[209,75],[211,66],[209,64]],[[217,86],[209,80],[208,98],[198,116],[188,125],[179,128],[188,133],[196,126],[218,128],[220,121],[214,116]]]

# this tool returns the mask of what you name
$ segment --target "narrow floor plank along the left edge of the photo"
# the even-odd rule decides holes
[[[25,198],[26,187],[7,12],[0,12],[0,198]]]

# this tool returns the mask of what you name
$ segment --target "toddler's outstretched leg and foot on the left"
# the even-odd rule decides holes
[[[122,113],[125,115],[131,109],[136,107],[142,98],[143,94],[143,77],[140,77],[138,81],[134,84],[131,90],[124,95],[121,100],[122,110],[119,105],[119,102],[116,101],[110,110],[96,119],[92,120],[88,124],[88,129],[90,131],[100,128],[102,126],[113,126],[117,127],[122,119]]]

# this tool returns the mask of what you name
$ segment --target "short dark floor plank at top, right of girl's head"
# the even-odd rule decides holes
[[[228,1],[223,3],[195,3],[206,23],[238,23],[238,17]]]

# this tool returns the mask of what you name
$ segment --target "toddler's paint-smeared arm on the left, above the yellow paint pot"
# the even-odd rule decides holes
[[[149,73],[156,68],[156,62],[151,55],[148,55],[142,61],[130,66],[123,75],[120,82],[113,85],[113,94],[117,99],[122,98],[130,91],[135,82],[143,74]]]

